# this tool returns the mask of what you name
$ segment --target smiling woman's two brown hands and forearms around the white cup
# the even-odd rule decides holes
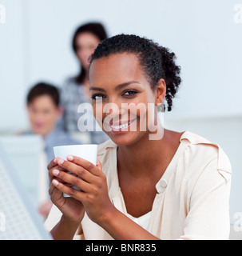
[[[89,218],[102,226],[114,239],[157,239],[113,206],[98,159],[97,166],[74,156],[67,159],[68,161],[64,161],[58,158],[49,165],[51,198],[65,218],[80,218],[85,209]],[[77,186],[81,191],[69,184]],[[72,198],[63,198],[62,193],[69,194]],[[73,238],[75,230],[75,224],[71,229],[69,222],[62,220],[52,230],[52,234],[58,239]]]

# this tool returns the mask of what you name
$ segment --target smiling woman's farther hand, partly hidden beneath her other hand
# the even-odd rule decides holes
[[[85,214],[84,206],[75,198],[64,198],[62,191],[58,189],[58,186],[55,186],[55,184],[63,181],[61,181],[60,178],[54,177],[54,174],[58,174],[59,172],[65,173],[66,171],[58,165],[58,161],[60,160],[60,158],[54,158],[48,165],[50,178],[50,198],[54,205],[61,210],[61,213],[66,221],[80,224]],[[66,184],[65,182],[63,182],[63,184],[65,184],[65,186],[70,186],[70,184]]]

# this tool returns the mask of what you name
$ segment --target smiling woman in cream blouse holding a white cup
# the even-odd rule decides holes
[[[55,218],[54,208],[47,220],[54,238],[228,238],[226,154],[196,134],[164,129],[157,107],[149,111],[165,99],[172,109],[179,74],[175,54],[146,38],[121,34],[97,46],[90,93],[94,116],[111,139],[99,146],[96,166],[75,156],[50,162],[50,197],[62,216]]]

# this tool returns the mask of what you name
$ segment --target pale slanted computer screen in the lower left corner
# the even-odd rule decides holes
[[[0,240],[49,240],[43,220],[0,144]]]

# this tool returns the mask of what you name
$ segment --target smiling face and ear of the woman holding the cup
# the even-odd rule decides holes
[[[89,85],[94,116],[113,142],[131,145],[148,136],[149,114],[156,116],[154,106],[165,98],[165,83],[152,90],[136,54],[94,60]]]

